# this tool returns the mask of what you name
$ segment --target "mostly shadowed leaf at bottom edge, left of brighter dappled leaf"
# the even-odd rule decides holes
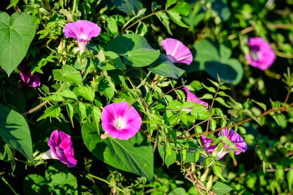
[[[25,195],[51,195],[52,189],[47,181],[37,174],[31,174],[24,178],[22,183]]]

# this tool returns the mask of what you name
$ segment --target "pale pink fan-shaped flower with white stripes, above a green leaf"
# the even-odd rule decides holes
[[[184,63],[190,65],[192,54],[187,46],[177,39],[167,38],[161,41],[163,49],[166,51],[167,58],[172,63]]]

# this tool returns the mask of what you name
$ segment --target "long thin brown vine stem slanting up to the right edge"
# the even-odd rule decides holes
[[[293,102],[292,102],[291,104],[289,104],[289,107],[292,107],[292,106],[293,106]],[[276,109],[273,109],[273,108],[272,108],[272,109],[270,109],[270,110],[268,110],[268,111],[266,111],[266,112],[264,112],[264,113],[258,115],[257,118],[258,118],[258,117],[264,117],[264,116],[266,116],[266,115],[268,115],[268,114],[270,114],[270,113],[277,112],[277,111],[284,112],[285,110],[286,110],[286,107],[285,107],[285,106],[282,106],[282,107],[279,107],[279,108],[276,108]],[[213,134],[213,133],[215,133],[215,132],[221,131],[222,129],[232,128],[232,127],[235,127],[235,126],[241,125],[241,124],[246,123],[246,122],[251,121],[251,120],[252,120],[252,118],[250,117],[250,118],[247,118],[247,119],[242,120],[242,121],[240,121],[240,122],[237,122],[237,123],[235,123],[235,124],[232,124],[232,125],[229,125],[229,126],[226,126],[226,127],[220,127],[220,128],[218,128],[218,129],[216,129],[216,130],[214,130],[214,131],[209,131],[209,132],[202,132],[202,133],[192,134],[192,135],[187,136],[187,137],[178,137],[178,139],[188,139],[188,138],[196,137],[196,136],[200,136],[200,135],[209,135],[209,134]]]

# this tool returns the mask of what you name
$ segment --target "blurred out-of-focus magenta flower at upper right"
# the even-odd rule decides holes
[[[254,37],[248,39],[248,45],[251,52],[245,55],[245,59],[251,66],[260,70],[266,70],[272,66],[276,55],[268,42],[261,37]]]

